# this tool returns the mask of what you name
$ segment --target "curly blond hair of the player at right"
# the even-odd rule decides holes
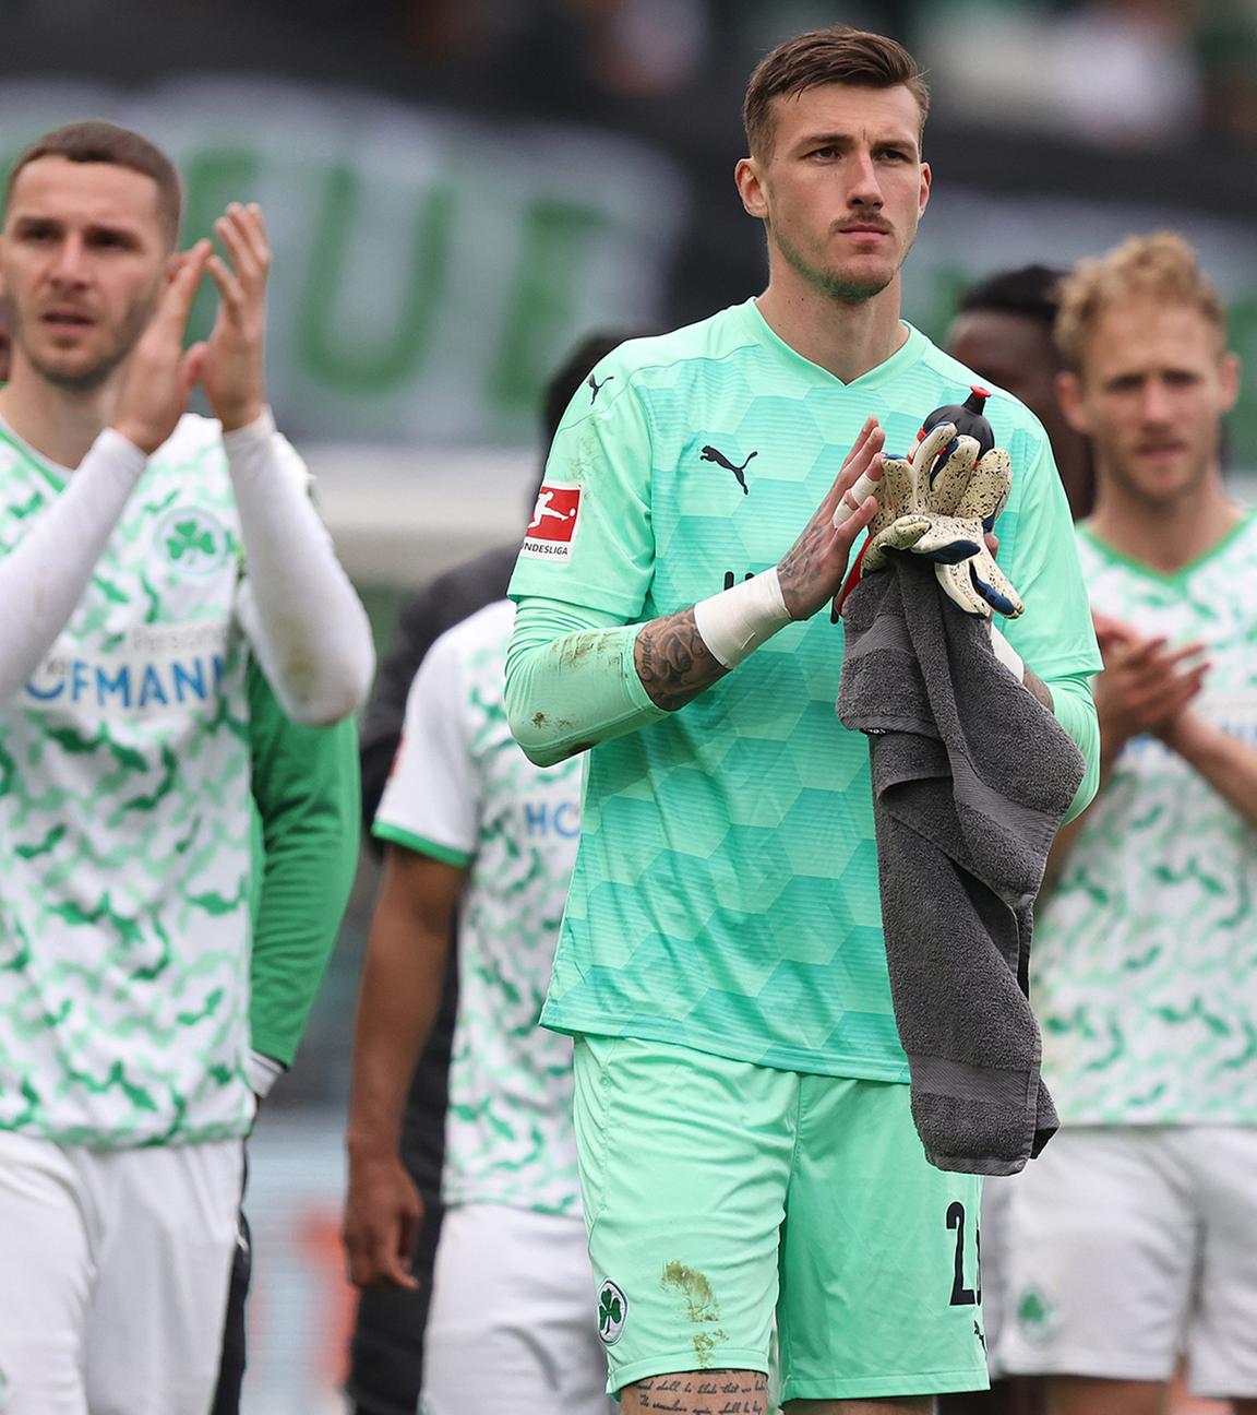
[[[1172,231],[1127,236],[1092,260],[1080,260],[1060,282],[1056,348],[1072,374],[1080,374],[1087,342],[1107,308],[1140,296],[1189,304],[1216,325],[1226,344],[1226,311],[1213,282],[1200,270],[1191,243]]]

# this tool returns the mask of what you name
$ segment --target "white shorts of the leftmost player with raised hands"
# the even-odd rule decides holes
[[[243,1153],[0,1133],[4,1415],[205,1415]]]

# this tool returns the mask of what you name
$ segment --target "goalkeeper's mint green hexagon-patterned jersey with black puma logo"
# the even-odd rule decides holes
[[[974,375],[916,330],[843,385],[754,300],[604,359],[571,402],[512,580],[625,623],[782,558],[864,419],[889,451]],[[1014,468],[1000,562],[1008,638],[1042,678],[1099,668],[1042,427],[987,405]],[[874,849],[868,746],[834,715],[843,630],[790,624],[680,712],[594,747],[543,1022],[735,1060],[905,1081]]]

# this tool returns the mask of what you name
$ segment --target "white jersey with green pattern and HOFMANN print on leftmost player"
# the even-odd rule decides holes
[[[68,475],[0,427],[0,553]],[[249,1128],[239,580],[221,432],[188,416],[0,705],[0,1129],[120,1148]]]

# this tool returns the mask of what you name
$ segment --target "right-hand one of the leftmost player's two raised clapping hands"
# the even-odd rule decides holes
[[[205,347],[202,383],[223,432],[235,432],[266,408],[266,277],[270,248],[259,207],[232,202],[214,224],[230,263],[211,255],[206,269],[218,286],[218,318]]]

